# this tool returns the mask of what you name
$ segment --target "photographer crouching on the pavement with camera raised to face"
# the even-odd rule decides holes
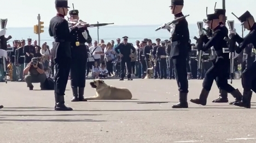
[[[24,69],[25,82],[27,83],[27,87],[30,90],[33,90],[34,86],[32,83],[40,83],[41,90],[44,90],[44,82],[46,79],[46,75],[44,73],[43,64],[39,63],[40,59],[34,57],[31,59],[30,63]]]

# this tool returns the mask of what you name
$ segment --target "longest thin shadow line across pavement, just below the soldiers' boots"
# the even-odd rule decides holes
[[[1,111],[55,111],[53,110],[1,110]],[[185,111],[179,109],[146,109],[146,110],[73,110],[73,111]]]

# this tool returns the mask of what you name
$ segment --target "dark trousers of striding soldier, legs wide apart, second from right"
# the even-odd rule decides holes
[[[227,71],[229,70],[229,59],[224,59],[223,57],[217,57],[213,65],[205,74],[205,79],[203,79],[203,88],[210,91],[212,88],[213,80],[216,80],[216,84],[220,90],[225,90],[227,92],[232,92],[235,89],[228,84]]]

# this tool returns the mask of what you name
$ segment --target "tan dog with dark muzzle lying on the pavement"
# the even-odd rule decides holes
[[[92,88],[95,88],[96,96],[86,97],[85,100],[131,100],[132,94],[129,89],[115,88],[107,85],[101,79],[95,79],[90,82]]]

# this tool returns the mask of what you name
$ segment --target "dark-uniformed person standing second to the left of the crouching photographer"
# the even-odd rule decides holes
[[[15,40],[13,43],[14,43],[13,52],[9,52],[9,57],[10,57],[11,65],[13,66],[13,77],[11,81],[16,82],[19,80],[17,76],[17,61],[15,58],[15,50],[18,47],[18,40]]]

